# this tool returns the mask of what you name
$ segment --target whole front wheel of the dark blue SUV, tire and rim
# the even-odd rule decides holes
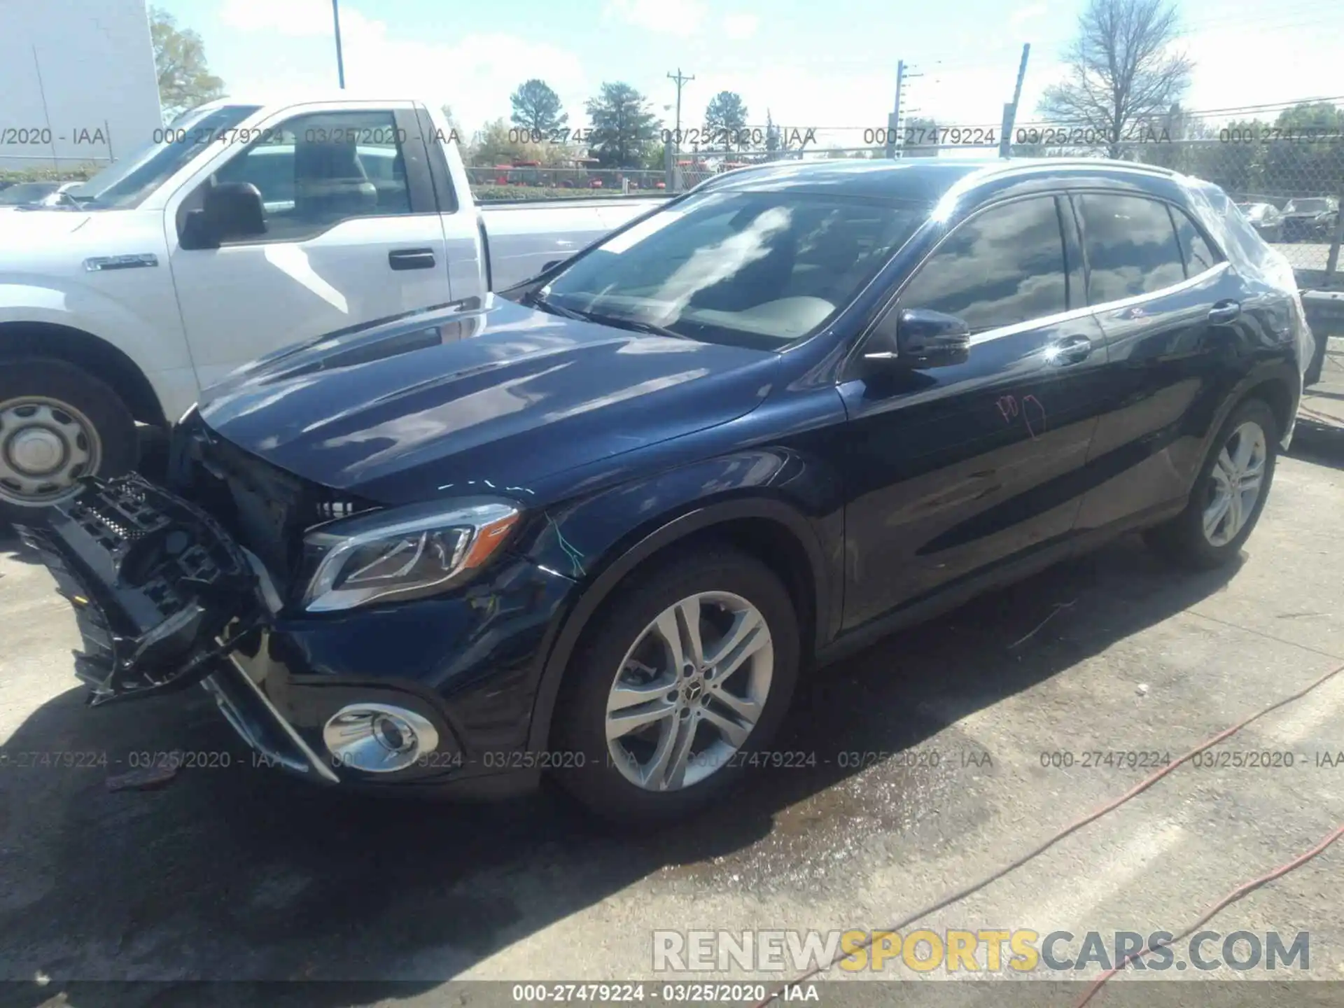
[[[618,825],[692,814],[770,743],[798,652],[793,601],[754,556],[712,547],[637,571],[566,671],[560,784]]]

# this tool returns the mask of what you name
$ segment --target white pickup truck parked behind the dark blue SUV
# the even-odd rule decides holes
[[[478,207],[415,101],[202,106],[58,206],[0,216],[0,515],[137,458],[263,353],[500,290],[653,208]]]

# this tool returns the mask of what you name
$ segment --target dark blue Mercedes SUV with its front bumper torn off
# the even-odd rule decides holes
[[[1231,558],[1309,351],[1193,179],[749,168],[242,370],[167,487],[91,480],[24,535],[95,706],[202,684],[314,781],[554,773],[659,820],[771,758],[800,669],[1132,530]]]

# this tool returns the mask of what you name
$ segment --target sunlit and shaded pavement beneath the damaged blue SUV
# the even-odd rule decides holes
[[[1341,441],[1313,429],[1281,460],[1232,569],[1177,574],[1125,539],[884,640],[801,688],[777,749],[812,759],[755,770],[720,808],[637,837],[551,790],[482,806],[310,789],[254,767],[196,691],[90,710],[67,605],[3,543],[0,978],[13,982],[0,1000],[247,1003],[191,986],[206,978],[362,981],[288,985],[267,1004],[472,1004],[489,991],[509,1003],[509,986],[461,981],[665,980],[660,929],[887,926],[1150,773],[1085,754],[1179,755],[1344,665]],[[1294,759],[1181,766],[915,926],[1179,933],[1344,823],[1344,675],[1218,750]],[[153,789],[109,786],[134,754],[167,751],[215,755]],[[51,753],[66,755],[43,762]],[[1302,981],[1344,981],[1341,868],[1344,843],[1208,925],[1308,931],[1305,969],[1167,973],[1153,991],[1340,1003],[1344,984]],[[688,976],[786,973],[676,974]],[[74,981],[155,982],[113,997]],[[1124,996],[1141,981],[1118,978],[1094,1004],[1157,1004]],[[1012,985],[943,982],[938,1003],[1001,1005]],[[890,1003],[890,988],[867,989]],[[1043,988],[1031,1003],[1075,993]]]

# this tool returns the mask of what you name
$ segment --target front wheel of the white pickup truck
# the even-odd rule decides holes
[[[81,476],[136,464],[136,422],[103,382],[63,360],[0,366],[0,519],[32,521]]]

